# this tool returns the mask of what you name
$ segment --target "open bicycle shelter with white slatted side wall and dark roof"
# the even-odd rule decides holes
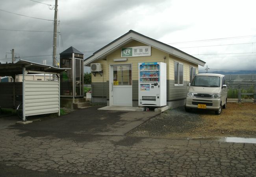
[[[55,68],[49,65],[42,65],[20,59],[13,63],[0,63],[0,76],[12,76],[13,83],[0,83],[0,104],[4,106],[3,101],[13,101],[15,106],[15,94],[18,83],[15,83],[15,76],[23,75],[22,84],[22,108],[23,121],[26,116],[39,114],[58,113],[60,115],[60,79],[51,81],[35,81],[26,79],[27,74],[56,74],[69,68]],[[8,87],[12,84],[13,86]],[[11,89],[10,89],[11,88]],[[17,100],[16,100],[17,101]]]

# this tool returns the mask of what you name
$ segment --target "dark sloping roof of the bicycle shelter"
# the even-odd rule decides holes
[[[17,74],[23,74],[23,67],[30,71],[28,74],[36,74],[37,72],[60,73],[67,70],[67,68],[55,68],[50,65],[33,63],[20,59],[17,62],[0,63],[0,76],[14,76]]]

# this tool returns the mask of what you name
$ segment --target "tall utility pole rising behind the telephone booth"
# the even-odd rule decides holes
[[[53,52],[52,52],[52,66],[58,67],[57,65],[57,14],[58,14],[58,0],[55,0],[55,8],[54,8],[54,28],[53,28]],[[56,76],[54,75],[54,80],[56,80]]]

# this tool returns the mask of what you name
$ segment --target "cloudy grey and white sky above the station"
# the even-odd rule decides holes
[[[1,0],[1,63],[14,49],[20,59],[52,65],[54,4]],[[59,0],[57,53],[73,46],[86,59],[134,30],[205,61],[202,72],[256,71],[255,7],[255,0]]]

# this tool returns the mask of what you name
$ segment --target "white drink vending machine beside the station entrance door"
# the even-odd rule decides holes
[[[165,106],[166,63],[138,63],[139,106]]]

